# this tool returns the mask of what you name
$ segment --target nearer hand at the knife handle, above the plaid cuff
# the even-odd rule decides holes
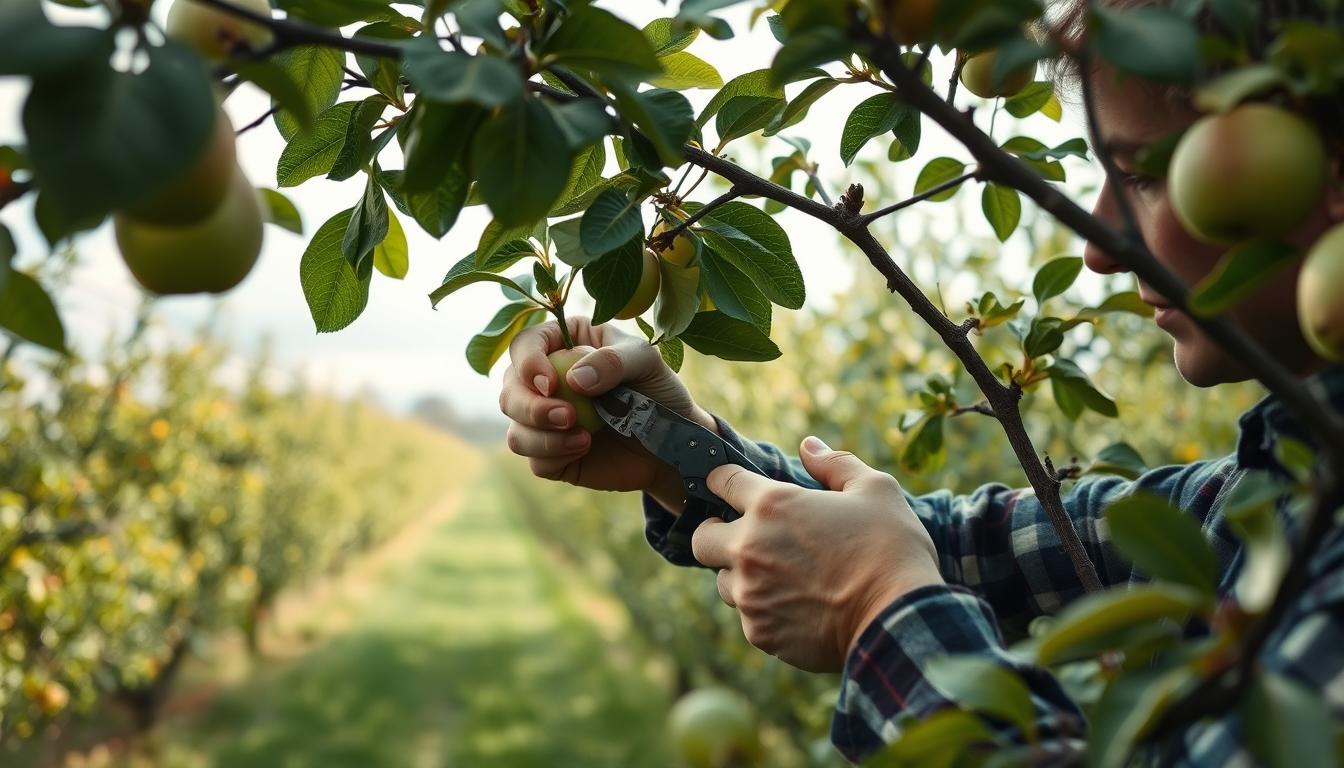
[[[892,600],[942,574],[895,477],[816,437],[801,457],[828,491],[732,465],[710,472],[710,491],[742,518],[706,521],[691,550],[722,569],[719,597],[738,609],[749,643],[802,670],[839,671]]]

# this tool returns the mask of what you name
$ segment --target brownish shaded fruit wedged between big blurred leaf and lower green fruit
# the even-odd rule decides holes
[[[238,165],[235,145],[233,122],[223,109],[215,110],[210,144],[191,168],[155,196],[126,208],[125,214],[159,226],[184,226],[204,219],[228,194]]]

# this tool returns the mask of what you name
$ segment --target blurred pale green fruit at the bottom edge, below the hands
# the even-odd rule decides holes
[[[672,745],[691,768],[738,768],[761,760],[751,705],[722,687],[694,690],[668,714]]]

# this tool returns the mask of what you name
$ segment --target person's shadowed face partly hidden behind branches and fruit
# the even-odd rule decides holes
[[[1191,237],[1172,211],[1165,182],[1140,175],[1134,160],[1141,148],[1188,126],[1198,116],[1168,102],[1152,89],[1117,83],[1107,70],[1093,75],[1093,86],[1097,128],[1116,159],[1118,180],[1134,211],[1144,242],[1176,277],[1187,285],[1198,284],[1214,269],[1227,247],[1207,245]],[[1293,241],[1304,247],[1309,246],[1331,223],[1340,219],[1344,211],[1339,208],[1344,206],[1336,198],[1341,196],[1344,195],[1335,191],[1325,195],[1327,199],[1294,234]],[[1093,213],[1113,226],[1124,226],[1110,180],[1101,190]],[[1091,243],[1083,258],[1093,272],[1128,272]],[[1281,270],[1228,315],[1281,364],[1298,375],[1306,375],[1321,369],[1324,362],[1306,346],[1298,327],[1297,272],[1298,265]],[[1214,386],[1250,377],[1238,360],[1204,336],[1187,315],[1169,308],[1167,299],[1142,281],[1140,296],[1157,308],[1157,325],[1175,339],[1176,369],[1185,381],[1195,386]]]

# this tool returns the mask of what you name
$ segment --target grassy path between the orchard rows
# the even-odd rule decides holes
[[[406,562],[353,604],[332,599],[331,636],[319,621],[308,652],[164,724],[163,761],[665,768],[665,691],[612,652],[582,592],[507,515],[516,498],[480,477]]]

